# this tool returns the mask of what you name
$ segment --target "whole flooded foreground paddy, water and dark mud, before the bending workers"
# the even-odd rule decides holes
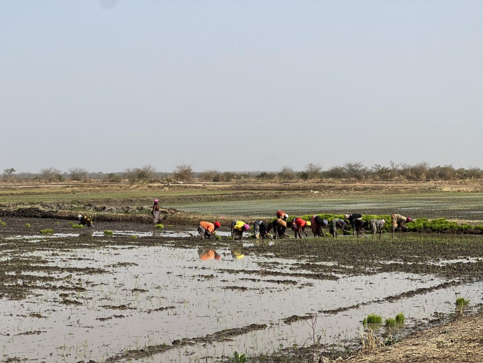
[[[202,242],[184,227],[24,224],[0,231],[3,360],[220,362],[236,350],[272,362],[313,344],[315,315],[316,349],[336,354],[358,348],[369,313],[403,312],[392,333],[404,335],[454,313],[458,296],[469,309],[483,297],[480,236]]]

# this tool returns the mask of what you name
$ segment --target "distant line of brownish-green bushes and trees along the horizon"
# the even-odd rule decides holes
[[[284,166],[278,171],[235,172],[218,170],[193,171],[191,165],[178,165],[171,172],[156,171],[156,167],[145,165],[127,168],[123,172],[89,172],[82,167],[72,167],[62,172],[54,166],[41,169],[38,173],[16,173],[13,167],[2,174],[3,182],[44,182],[98,181],[120,182],[223,182],[223,181],[451,181],[483,179],[483,170],[476,166],[455,168],[453,165],[431,166],[422,161],[410,165],[390,162],[389,166],[374,164],[365,166],[360,162],[348,162],[342,166],[332,166],[324,170],[320,164],[309,163],[301,171]]]

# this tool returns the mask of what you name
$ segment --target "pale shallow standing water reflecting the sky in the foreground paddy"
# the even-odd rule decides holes
[[[121,232],[115,234],[122,236]],[[23,238],[4,239],[2,243]],[[104,237],[94,233],[94,238]],[[32,236],[39,244],[42,239],[43,236]],[[210,250],[196,245],[180,248],[169,243],[120,245],[115,240],[103,248],[46,248],[22,254],[40,258],[46,266],[106,272],[36,272],[59,280],[44,283],[52,288],[34,289],[23,300],[0,299],[0,346],[4,359],[218,362],[232,356],[235,350],[250,357],[294,345],[310,345],[312,329],[307,322],[311,320],[285,319],[316,312],[320,343],[327,349],[343,349],[356,346],[363,330],[361,321],[368,313],[389,318],[403,312],[405,327],[398,330],[411,329],[434,312],[454,311],[455,296],[481,301],[483,288],[482,282],[466,283],[388,301],[385,298],[389,296],[434,287],[446,280],[405,272],[332,273],[334,279],[320,279],[302,271],[302,276],[293,276],[292,267],[301,262],[299,259],[245,254],[243,248],[248,244]],[[271,267],[264,267],[265,273],[259,274],[261,264]],[[21,281],[23,273],[32,272],[14,273]],[[361,302],[366,304],[327,312]],[[252,324],[259,325],[254,328]],[[246,329],[226,331],[233,328]],[[216,334],[223,331],[226,333]],[[207,334],[214,335],[196,339],[206,338]],[[128,350],[148,346],[156,347],[156,354],[123,356]]]

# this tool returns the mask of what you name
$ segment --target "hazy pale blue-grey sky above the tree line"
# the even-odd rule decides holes
[[[483,167],[483,1],[0,0],[0,170]]]

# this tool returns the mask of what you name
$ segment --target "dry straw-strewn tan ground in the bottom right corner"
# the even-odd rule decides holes
[[[414,333],[391,347],[360,353],[347,362],[483,362],[483,315]]]

